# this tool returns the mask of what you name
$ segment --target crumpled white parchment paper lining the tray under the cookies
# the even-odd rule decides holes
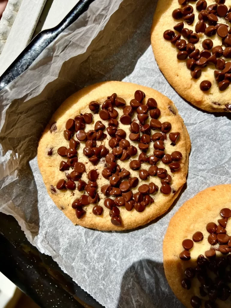
[[[150,47],[155,4],[96,0],[0,92],[0,210],[14,215],[29,241],[107,308],[182,307],[162,265],[170,217],[202,189],[230,183],[229,115],[196,109],[167,83]],[[52,113],[79,88],[103,80],[134,82],[168,96],[192,142],[187,185],[177,202],[163,217],[133,231],[72,225],[48,196],[37,167],[37,142]]]

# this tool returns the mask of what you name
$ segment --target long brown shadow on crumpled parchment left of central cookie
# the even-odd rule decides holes
[[[3,155],[10,150],[18,156],[16,163],[14,160],[14,164],[9,164],[12,173],[18,172],[18,180],[6,186],[4,178],[0,181],[0,200],[2,205],[13,201],[13,210],[28,223],[28,229],[33,229],[32,236],[39,230],[38,192],[28,162],[37,155],[38,141],[46,124],[61,103],[80,88],[106,80],[122,80],[134,70],[150,46],[156,2],[124,0],[84,54],[63,63],[59,77],[40,95],[29,100],[27,95],[15,99],[6,111],[0,143]],[[28,209],[24,206],[25,194],[30,194]]]

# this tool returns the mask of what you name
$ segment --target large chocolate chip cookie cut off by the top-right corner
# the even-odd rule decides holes
[[[218,2],[218,6],[216,2]],[[216,2],[215,0],[200,0],[196,2],[187,0],[179,0],[179,2],[178,0],[159,0],[151,29],[151,45],[159,68],[168,82],[183,98],[195,106],[210,112],[229,112],[231,111],[231,86],[229,86],[231,81],[231,63],[229,62],[231,58],[231,34],[228,34],[230,32],[229,27],[224,25],[218,30],[218,24],[222,23],[230,26],[231,13],[228,15],[225,13],[226,7],[227,9],[230,8],[231,1]],[[184,3],[184,5],[179,3]],[[220,3],[225,4],[221,5]],[[212,9],[211,5],[213,5]],[[174,11],[176,9],[179,10]],[[201,9],[204,9],[202,13]],[[174,17],[179,19],[172,17],[173,11]],[[224,17],[221,16],[223,14],[225,14]],[[198,24],[199,21],[201,24]],[[183,23],[183,32],[182,25],[178,26],[178,31],[175,30],[176,27],[174,29],[174,26],[179,23]],[[214,26],[211,26],[212,24]],[[185,28],[188,30],[185,30]],[[171,39],[171,35],[174,33],[165,33],[164,38],[163,34],[166,30],[173,30],[178,36],[171,42],[168,39]],[[190,31],[193,33],[190,33]],[[176,43],[178,39],[182,41]],[[207,43],[209,42],[206,44],[204,42],[206,39],[211,40],[212,43],[206,41]],[[209,46],[209,44],[213,44],[213,47],[212,45]],[[220,47],[218,48],[217,46]],[[194,49],[194,53],[191,54]],[[210,56],[213,57],[208,59]],[[200,59],[200,57],[203,59]],[[178,60],[179,58],[181,60]],[[189,68],[187,68],[186,63]],[[204,65],[207,66],[203,67]],[[216,76],[214,71],[216,71]],[[207,82],[202,83],[203,81]],[[201,83],[203,91],[201,90]],[[207,86],[211,86],[209,90]]]

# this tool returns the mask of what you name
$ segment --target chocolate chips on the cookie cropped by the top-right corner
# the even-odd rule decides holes
[[[193,7],[187,5],[187,0],[178,0],[178,2],[183,7],[175,9],[172,12],[172,17],[176,20],[183,19],[188,25],[191,25],[195,18]],[[218,83],[218,88],[220,91],[224,91],[229,87],[231,81],[231,62],[225,62],[221,57],[223,56],[226,59],[231,58],[231,28],[228,29],[226,24],[217,23],[217,16],[224,17],[231,23],[231,8],[228,10],[224,4],[225,0],[216,2],[218,4],[214,3],[208,7],[206,0],[199,0],[196,3],[196,9],[199,12],[199,21],[195,25],[196,33],[193,33],[188,28],[184,28],[184,22],[179,22],[174,26],[174,30],[178,34],[175,34],[173,30],[166,30],[163,36],[164,39],[171,41],[178,48],[178,60],[187,59],[186,66],[191,71],[192,78],[198,79],[202,74],[202,68],[206,67],[207,64],[213,64],[217,69],[214,71],[214,77]],[[194,44],[199,42],[198,33],[205,33],[208,37],[212,37],[217,33],[222,38],[222,44],[225,46],[225,49],[221,46],[213,47],[213,41],[211,39],[205,39],[202,42],[204,50],[200,51],[198,48],[196,49]],[[181,39],[181,35],[188,40],[188,43],[185,39]],[[209,80],[203,80],[200,83],[200,89],[202,91],[208,91],[210,87],[211,82]]]

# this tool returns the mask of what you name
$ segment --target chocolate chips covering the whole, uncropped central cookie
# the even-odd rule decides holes
[[[65,173],[67,180],[59,180],[56,188],[60,190],[74,190],[77,186],[78,191],[85,190],[87,194],[84,193],[72,203],[72,208],[76,210],[77,218],[83,217],[86,213],[83,206],[96,204],[100,200],[97,193],[98,185],[96,180],[98,173],[96,170],[92,169],[88,172],[88,183],[81,180],[81,176],[85,172],[85,165],[78,162],[77,148],[80,142],[85,142],[83,154],[88,157],[93,165],[96,165],[101,158],[105,159],[105,168],[102,171],[102,176],[109,182],[101,187],[101,192],[106,197],[113,196],[115,198],[106,198],[104,200],[104,205],[110,209],[109,215],[111,216],[112,224],[117,226],[122,224],[118,207],[124,206],[128,211],[135,208],[136,211],[143,212],[147,205],[154,202],[150,194],[157,192],[159,190],[158,186],[153,182],[143,184],[138,187],[138,192],[133,194],[131,188],[135,188],[139,184],[138,177],[130,177],[130,172],[125,168],[121,169],[117,164],[117,160],[128,160],[137,154],[137,148],[126,139],[126,132],[118,128],[119,121],[122,124],[130,125],[129,139],[137,142],[139,149],[142,151],[139,154],[138,160],[130,161],[130,168],[132,170],[139,170],[139,178],[141,180],[147,180],[149,176],[159,177],[161,180],[160,192],[163,194],[171,193],[171,176],[167,173],[166,169],[158,168],[156,164],[161,160],[170,167],[171,172],[176,172],[180,169],[179,161],[182,159],[182,153],[179,151],[174,151],[171,154],[165,153],[164,146],[164,141],[167,138],[170,139],[171,145],[174,146],[179,139],[180,133],[170,132],[171,124],[169,122],[161,123],[158,120],[161,111],[155,99],[148,99],[146,105],[144,105],[142,104],[144,98],[145,93],[137,90],[135,91],[134,99],[130,102],[130,106],[126,106],[125,100],[118,97],[116,93],[108,96],[101,109],[98,102],[91,102],[89,104],[90,111],[93,112],[93,115],[98,113],[102,120],[108,120],[107,128],[102,121],[97,121],[94,125],[94,130],[85,132],[85,125],[92,123],[92,113],[77,115],[74,119],[69,119],[66,122],[64,138],[69,141],[69,148],[62,146],[57,150],[60,156],[67,158],[67,161],[61,161],[59,170],[68,171],[70,168],[73,170],[70,173]],[[123,115],[119,121],[116,120],[118,111],[115,107],[123,108]],[[132,120],[131,117],[134,113],[137,114],[137,119]],[[150,124],[145,123],[149,116],[151,117]],[[52,129],[52,131],[55,130]],[[155,132],[151,135],[153,130]],[[75,132],[77,140],[73,139]],[[167,137],[166,134],[168,132],[170,133]],[[102,144],[97,146],[97,141],[103,140],[107,136],[111,137],[108,140],[109,147],[112,149],[111,152]],[[153,155],[147,156],[146,152],[152,142],[154,147]],[[53,150],[49,149],[48,155],[52,154]],[[140,169],[142,163],[149,163],[149,169]],[[76,181],[78,184],[75,183]],[[100,205],[96,205],[92,212],[95,215],[101,215],[103,208]]]

